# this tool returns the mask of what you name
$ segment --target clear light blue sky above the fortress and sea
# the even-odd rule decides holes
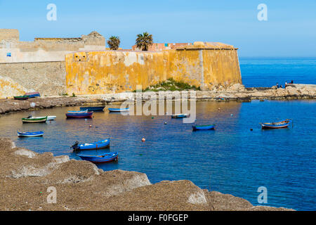
[[[48,4],[57,20],[48,21]],[[259,21],[259,4],[268,21]],[[239,56],[315,57],[316,0],[0,0],[0,28],[34,37],[80,37],[96,30],[121,38],[130,49],[136,34],[149,32],[154,42],[219,41],[239,48]]]

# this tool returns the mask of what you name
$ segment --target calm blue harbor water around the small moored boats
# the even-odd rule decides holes
[[[104,112],[94,113],[91,120],[66,120],[67,110],[78,108],[53,108],[1,116],[0,136],[37,153],[50,151],[78,160],[70,150],[74,141],[110,137],[110,151],[119,152],[119,161],[99,165],[104,170],[143,172],[152,183],[188,179],[201,188],[230,193],[254,205],[258,205],[258,187],[265,186],[270,206],[315,210],[315,106],[316,101],[198,102],[197,124],[216,123],[217,129],[195,132],[192,124],[168,115],[152,119]],[[30,113],[56,115],[57,119],[22,124],[21,118]],[[287,118],[294,120],[289,129],[261,130],[259,125]],[[45,134],[18,139],[18,130]]]

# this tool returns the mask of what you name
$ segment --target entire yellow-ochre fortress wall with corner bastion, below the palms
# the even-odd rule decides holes
[[[81,51],[65,56],[66,89],[107,94],[143,89],[170,77],[212,89],[241,84],[237,49],[213,42],[166,51]]]

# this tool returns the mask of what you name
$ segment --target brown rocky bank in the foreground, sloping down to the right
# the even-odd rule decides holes
[[[287,210],[202,190],[191,181],[150,184],[146,174],[104,172],[91,162],[17,148],[0,139],[0,210]],[[48,187],[56,203],[48,203]]]

